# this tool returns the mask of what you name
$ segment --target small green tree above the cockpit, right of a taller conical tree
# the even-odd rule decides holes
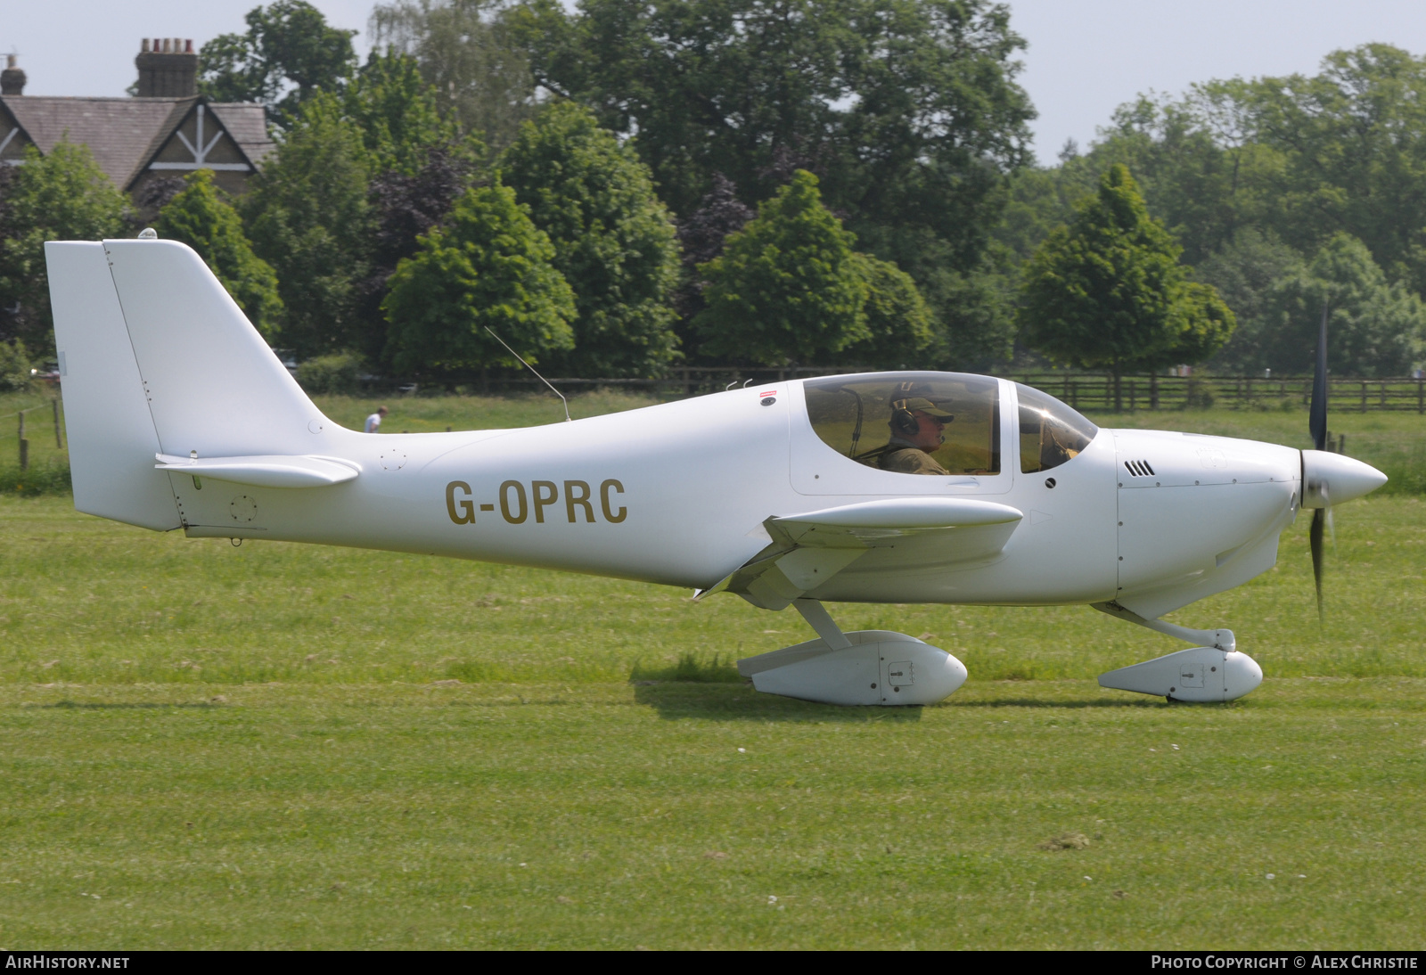
[[[868,254],[853,258],[857,274],[867,282],[863,309],[867,336],[847,345],[837,359],[880,369],[923,368],[934,352],[937,336],[931,312],[911,275]]]

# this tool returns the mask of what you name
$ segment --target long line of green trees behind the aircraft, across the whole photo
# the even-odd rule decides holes
[[[1400,375],[1426,335],[1426,61],[1122,107],[1037,165],[985,0],[394,0],[358,63],[301,0],[201,51],[277,151],[140,201],[278,348],[432,382],[520,355]],[[0,336],[51,349],[46,238],[135,232],[81,147],[0,174]],[[361,363],[361,365],[358,365]],[[312,375],[317,375],[315,372]]]

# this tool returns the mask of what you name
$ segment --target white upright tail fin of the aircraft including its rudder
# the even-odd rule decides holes
[[[329,452],[337,433],[177,241],[44,245],[74,506],[153,529],[181,516],[154,455]]]

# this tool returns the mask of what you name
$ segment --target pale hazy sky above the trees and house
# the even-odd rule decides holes
[[[241,31],[258,0],[3,0],[0,53],[17,51],[29,94],[123,96],[141,37]],[[371,0],[315,0],[365,30]],[[1386,41],[1426,54],[1422,0],[1011,0],[1030,43],[1021,84],[1040,111],[1035,153],[1088,144],[1115,105],[1194,81],[1315,71],[1338,47]],[[365,54],[364,38],[356,38]]]

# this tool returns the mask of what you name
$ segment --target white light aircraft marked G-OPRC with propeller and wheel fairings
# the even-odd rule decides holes
[[[1323,452],[1319,342],[1298,450],[1098,429],[1024,385],[951,372],[769,382],[569,423],[366,435],[297,385],[174,241],[46,244],[74,506],[190,537],[414,552],[736,593],[817,639],[739,661],[761,691],[928,704],[965,680],[823,602],[1088,603],[1196,644],[1099,677],[1182,701],[1253,690],[1226,629],[1165,613],[1248,582],[1316,509],[1385,475]],[[1323,324],[1325,335],[1325,324]]]

